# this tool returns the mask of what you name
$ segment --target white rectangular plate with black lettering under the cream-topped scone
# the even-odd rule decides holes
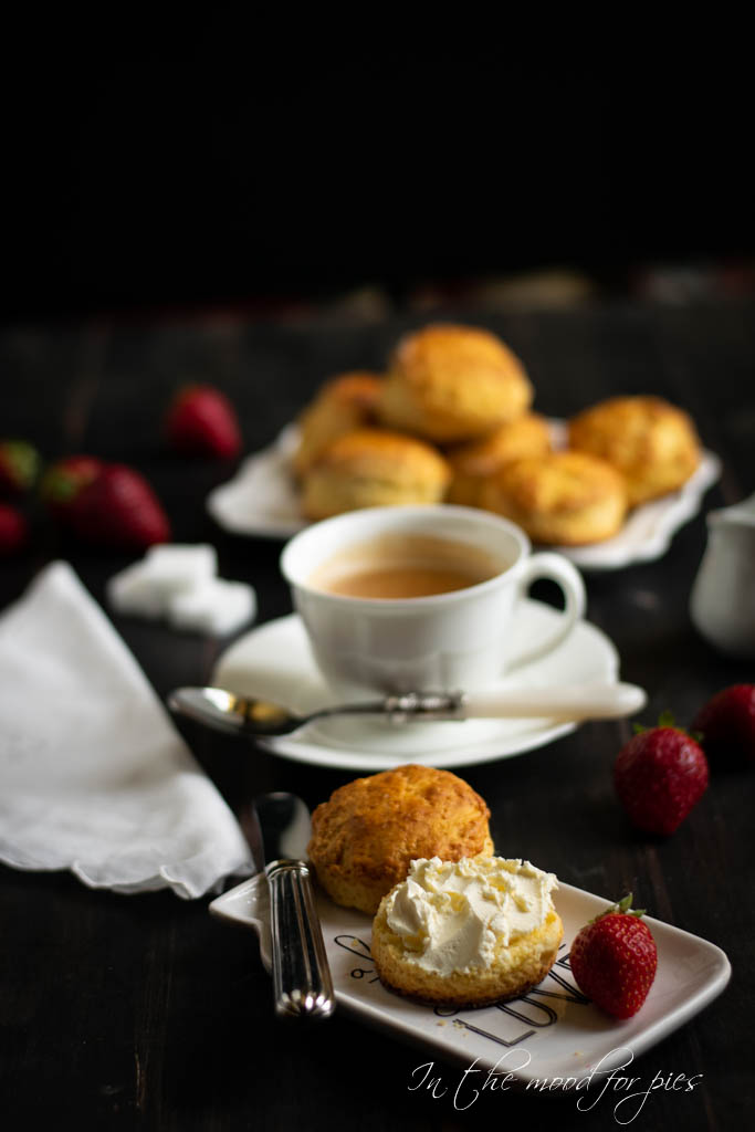
[[[552,971],[537,988],[498,1006],[441,1010],[387,990],[370,958],[371,918],[320,895],[318,908],[338,1009],[418,1044],[430,1056],[435,1053],[466,1066],[478,1058],[475,1069],[512,1073],[520,1083],[559,1078],[581,1081],[640,1056],[698,1013],[729,981],[731,968],[720,947],[647,916],[645,923],[658,946],[655,980],[634,1018],[610,1019],[577,990],[568,953],[580,928],[611,901],[569,884],[559,885],[555,900],[564,921],[564,943]],[[269,970],[264,874],[217,897],[209,910],[254,927]]]

